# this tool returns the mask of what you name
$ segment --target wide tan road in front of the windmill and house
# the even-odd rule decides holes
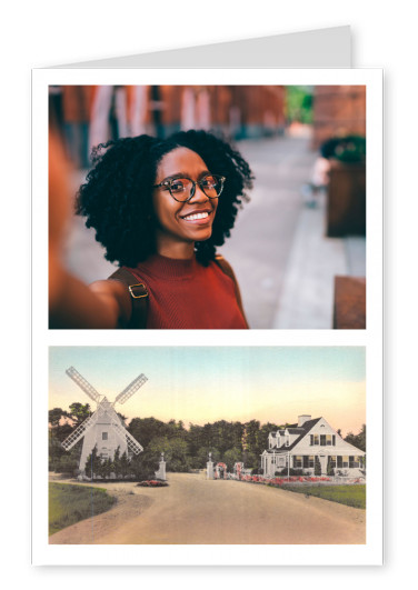
[[[266,486],[169,473],[169,487],[111,483],[118,504],[52,537],[54,544],[358,544],[366,513]],[[111,491],[113,490],[113,491]],[[133,492],[133,493],[132,493]]]

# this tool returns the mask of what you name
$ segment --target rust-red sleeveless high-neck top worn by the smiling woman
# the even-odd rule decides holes
[[[149,293],[147,329],[246,329],[232,279],[213,261],[150,257],[128,269]]]

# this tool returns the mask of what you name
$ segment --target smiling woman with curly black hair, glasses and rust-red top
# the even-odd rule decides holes
[[[56,314],[50,327],[248,328],[232,269],[216,253],[252,186],[240,153],[187,131],[109,141],[93,164],[76,210],[119,269],[89,287],[97,313]]]

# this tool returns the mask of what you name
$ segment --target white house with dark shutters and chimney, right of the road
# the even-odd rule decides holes
[[[320,471],[326,476],[364,476],[366,453],[346,442],[325,418],[298,417],[298,423],[270,432],[269,448],[261,454],[266,477],[286,474],[290,469],[301,469],[303,474]],[[317,469],[316,469],[317,464]]]

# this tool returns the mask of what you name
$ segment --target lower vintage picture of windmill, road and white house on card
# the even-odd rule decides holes
[[[50,544],[365,544],[364,347],[51,347]]]

